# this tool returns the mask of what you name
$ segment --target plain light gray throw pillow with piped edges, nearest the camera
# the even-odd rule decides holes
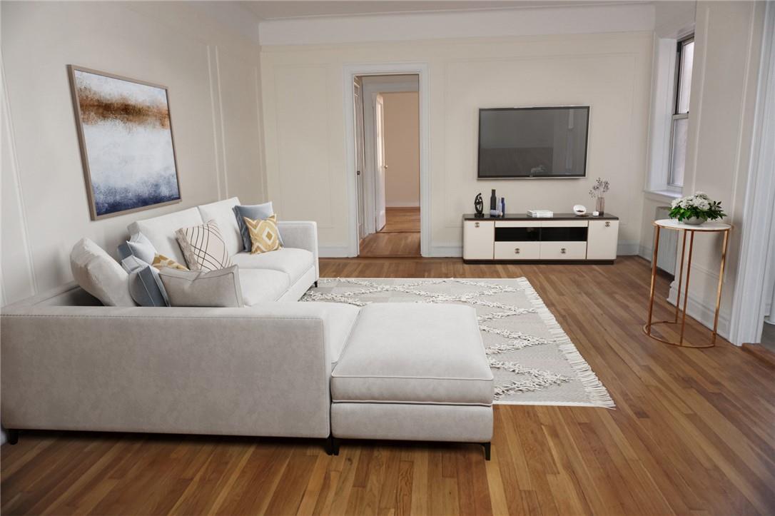
[[[226,269],[177,270],[164,267],[159,276],[170,299],[170,306],[238,308],[243,306],[236,265]]]

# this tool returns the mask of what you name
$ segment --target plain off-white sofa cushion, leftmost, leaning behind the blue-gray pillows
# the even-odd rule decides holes
[[[73,277],[105,306],[136,306],[129,294],[129,273],[90,239],[80,239],[70,253]]]

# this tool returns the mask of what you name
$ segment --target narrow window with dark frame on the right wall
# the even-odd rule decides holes
[[[680,189],[684,186],[686,138],[689,127],[689,95],[691,68],[694,60],[694,36],[678,42],[676,56],[675,97],[673,98],[673,127],[670,129],[670,170],[667,184]]]

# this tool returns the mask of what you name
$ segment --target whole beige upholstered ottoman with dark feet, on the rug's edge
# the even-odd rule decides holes
[[[331,375],[339,439],[476,442],[490,459],[493,376],[476,312],[459,304],[361,308]]]

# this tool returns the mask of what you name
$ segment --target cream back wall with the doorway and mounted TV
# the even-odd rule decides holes
[[[263,24],[262,24],[263,27]],[[286,218],[319,223],[322,253],[347,253],[346,64],[426,63],[430,88],[430,252],[459,256],[460,215],[497,188],[510,212],[592,205],[622,218],[620,251],[636,253],[645,181],[651,32],[262,46],[270,198]],[[477,181],[477,110],[590,105],[586,179]]]

